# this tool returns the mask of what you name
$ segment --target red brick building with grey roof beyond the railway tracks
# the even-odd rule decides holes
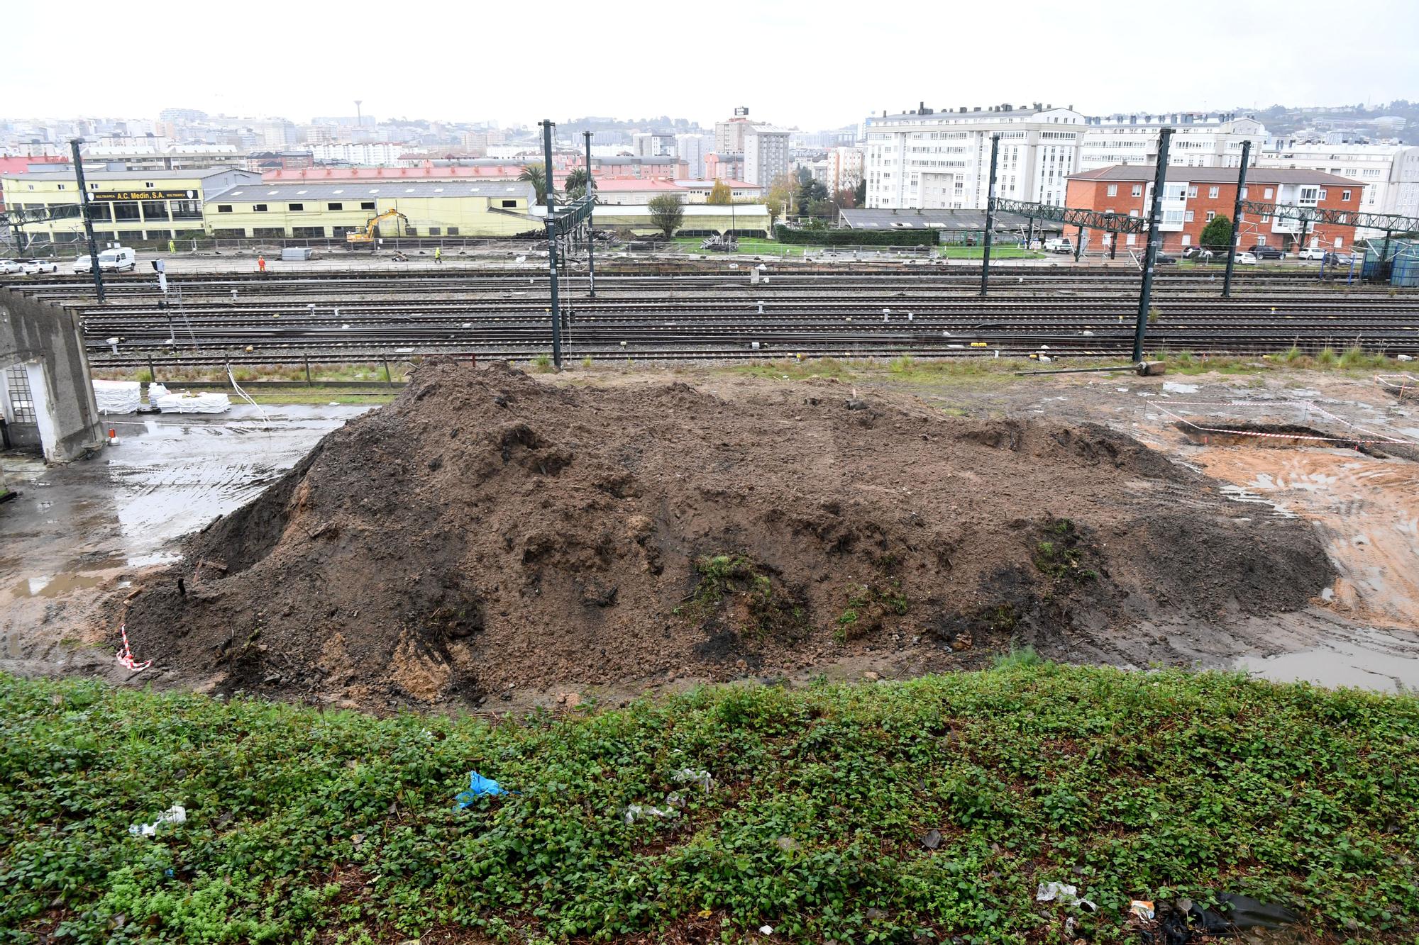
[[[1155,167],[1149,165],[1114,165],[1071,175],[1064,203],[1078,210],[1112,211],[1121,216],[1145,217],[1152,200]],[[1202,228],[1215,216],[1232,217],[1236,203],[1236,167],[1168,167],[1162,194],[1162,248],[1181,253],[1200,243]],[[1249,167],[1243,200],[1286,203],[1324,210],[1359,210],[1365,184],[1337,177],[1320,170],[1298,167]],[[1243,213],[1233,221],[1237,244],[1243,250],[1253,245],[1273,245],[1294,251],[1301,237],[1301,221],[1276,216]],[[1108,234],[1104,245],[1108,245]],[[1142,247],[1142,234],[1124,236],[1121,245]],[[1354,227],[1310,224],[1305,245],[1327,250],[1348,250],[1355,240]]]

